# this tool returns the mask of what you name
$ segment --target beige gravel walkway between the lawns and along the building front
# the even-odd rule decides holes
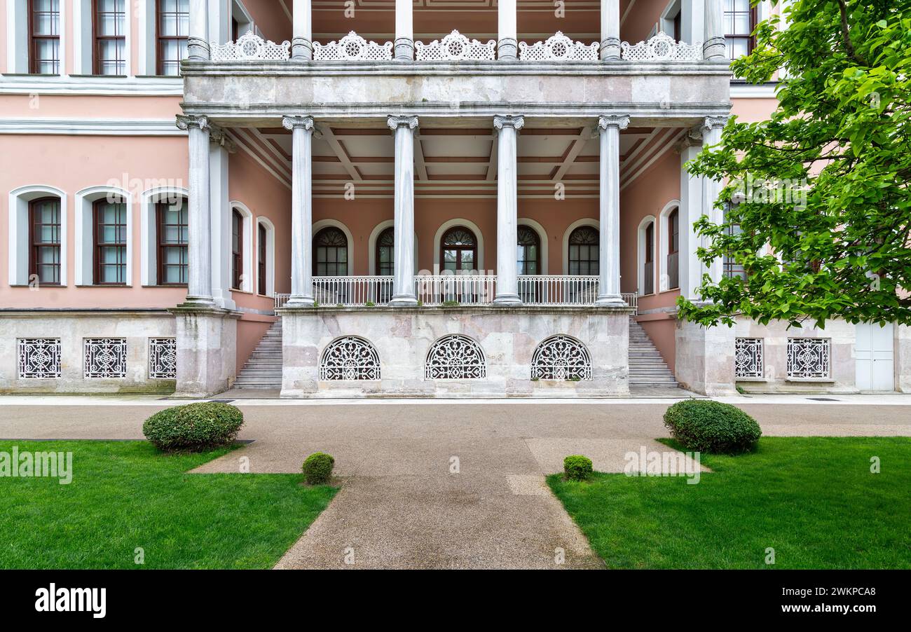
[[[766,434],[911,436],[911,397],[894,397],[738,403]],[[142,421],[173,404],[100,399],[0,397],[0,437],[141,438]],[[621,471],[627,452],[665,449],[654,438],[671,402],[237,403],[253,443],[198,471],[237,472],[247,457],[251,472],[299,472],[322,451],[343,483],[278,567],[578,568],[601,563],[544,475],[567,454]]]

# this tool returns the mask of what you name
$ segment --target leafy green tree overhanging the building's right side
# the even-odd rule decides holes
[[[911,324],[911,0],[796,0],[783,15],[732,62],[752,83],[783,68],[777,109],[732,117],[688,165],[726,181],[722,223],[696,222],[698,256],[744,278],[704,275],[681,318]]]

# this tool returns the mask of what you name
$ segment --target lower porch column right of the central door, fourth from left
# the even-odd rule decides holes
[[[496,299],[495,305],[521,305],[516,276],[517,136],[524,117],[494,117],[496,136]]]

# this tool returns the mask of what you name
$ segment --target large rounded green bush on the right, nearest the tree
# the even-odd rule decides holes
[[[755,449],[763,431],[737,406],[711,400],[685,400],[664,413],[671,436],[689,450],[742,454]]]

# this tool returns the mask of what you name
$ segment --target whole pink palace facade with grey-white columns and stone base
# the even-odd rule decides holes
[[[0,392],[911,388],[904,328],[676,318],[771,7],[0,5]]]

